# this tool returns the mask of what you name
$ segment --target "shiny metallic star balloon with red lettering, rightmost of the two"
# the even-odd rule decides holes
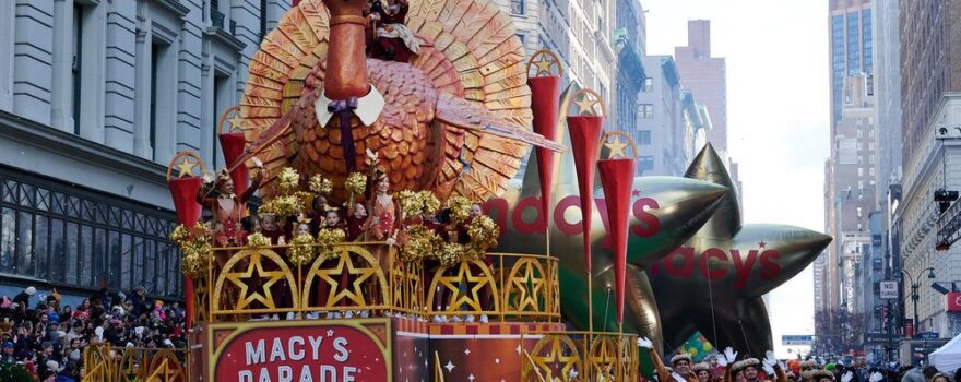
[[[736,187],[710,145],[685,176],[727,187],[732,194],[690,240],[649,267],[657,305],[643,309],[660,311],[672,348],[700,331],[716,348],[763,354],[773,343],[761,297],[804,270],[832,239],[786,225],[741,226]],[[633,275],[639,289],[650,288],[642,274]]]

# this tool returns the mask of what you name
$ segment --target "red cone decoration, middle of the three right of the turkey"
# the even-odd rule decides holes
[[[568,132],[581,193],[581,226],[584,231],[584,266],[591,272],[591,217],[594,215],[594,165],[597,163],[604,117],[568,116]]]

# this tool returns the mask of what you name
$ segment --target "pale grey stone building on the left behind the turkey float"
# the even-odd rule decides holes
[[[0,2],[0,293],[182,293],[165,182],[214,139],[289,0]]]

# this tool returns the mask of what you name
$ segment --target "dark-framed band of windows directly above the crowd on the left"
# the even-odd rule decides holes
[[[2,169],[0,195],[0,272],[88,290],[182,293],[179,253],[167,240],[173,213]]]

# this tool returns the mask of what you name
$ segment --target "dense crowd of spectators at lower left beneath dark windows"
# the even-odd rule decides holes
[[[83,348],[96,342],[186,348],[185,311],[178,302],[147,298],[142,287],[129,294],[102,289],[76,307],[61,303],[56,289],[44,296],[33,286],[0,299],[2,372],[28,374],[27,380],[80,381]]]

